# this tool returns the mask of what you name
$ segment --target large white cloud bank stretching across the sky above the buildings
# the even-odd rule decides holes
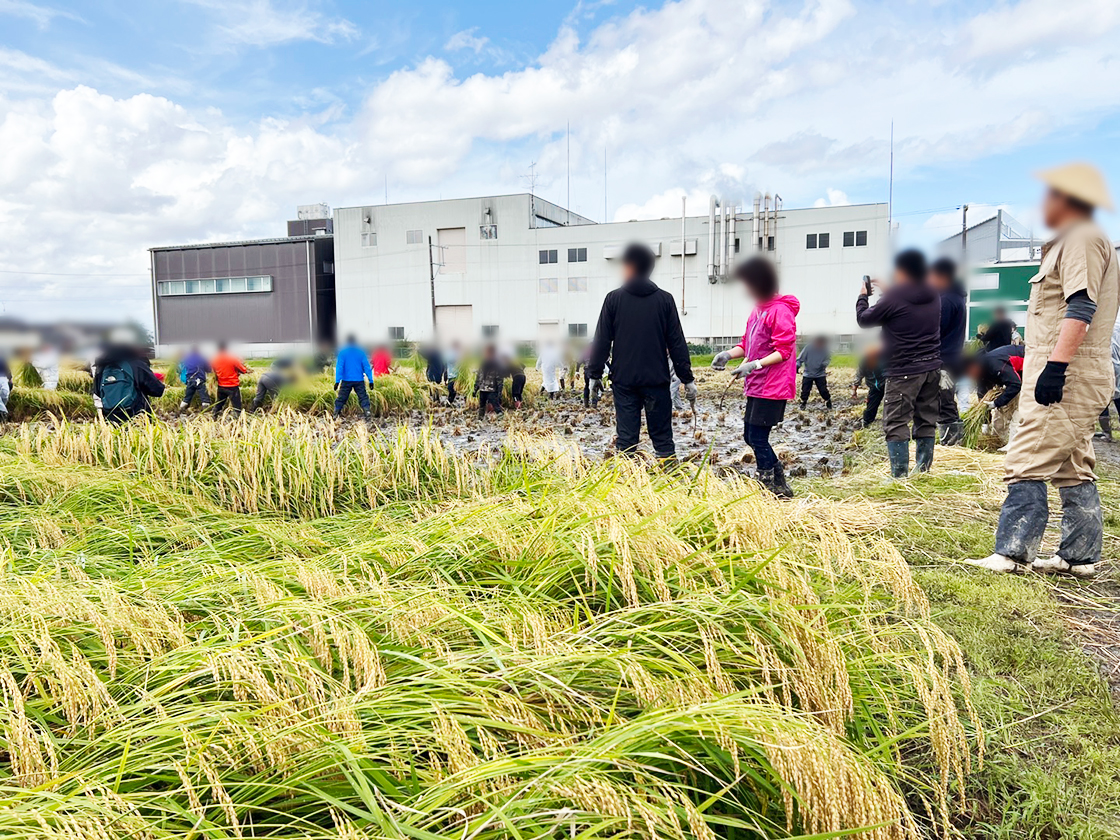
[[[355,31],[296,0],[193,1],[226,45]],[[82,86],[97,75],[88,64],[0,49],[0,269],[138,274],[96,288],[142,298],[147,248],[270,235],[296,204],[376,200],[386,176],[393,200],[513,192],[535,160],[540,190],[563,203],[569,122],[572,209],[595,218],[604,180],[613,218],[675,216],[683,195],[703,213],[709,194],[748,203],[756,189],[780,192],[786,206],[885,200],[892,120],[897,183],[1120,112],[1120,88],[1104,84],[1120,73],[1120,18],[1091,0],[1067,0],[1067,15],[1055,2],[980,9],[943,32],[945,49],[930,49],[898,17],[912,4],[675,0],[584,36],[566,25],[534,60],[505,72],[421,58],[373,84],[348,122],[329,91],[300,105],[301,120],[246,127],[165,97],[106,96]],[[1096,25],[1080,30],[1077,16],[1094,10]],[[1060,37],[1012,32],[1011,18],[998,17],[1042,11],[1066,21]],[[982,41],[993,26],[1030,48],[1014,64],[962,71],[1010,43]],[[1033,20],[1021,26],[1034,31]],[[444,46],[486,55],[484,39],[466,30]],[[40,288],[65,301],[74,282],[83,281]],[[146,316],[146,302],[136,307]]]

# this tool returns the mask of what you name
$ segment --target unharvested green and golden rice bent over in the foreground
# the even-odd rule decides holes
[[[8,838],[951,836],[983,734],[859,505],[302,416],[0,440]]]

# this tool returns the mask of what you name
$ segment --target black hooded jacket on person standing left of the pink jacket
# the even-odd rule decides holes
[[[673,296],[648,279],[629,280],[608,293],[595,327],[587,379],[603,379],[608,358],[610,382],[623,388],[669,385],[670,360],[678,379],[685,385],[692,382],[692,361]]]

